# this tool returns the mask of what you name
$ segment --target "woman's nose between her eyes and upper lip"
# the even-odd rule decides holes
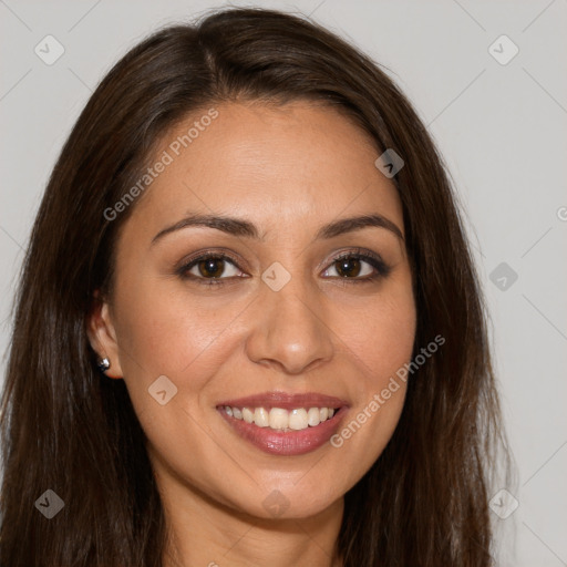
[[[279,291],[261,291],[246,350],[252,362],[301,374],[331,360],[333,333],[317,292],[293,280]]]

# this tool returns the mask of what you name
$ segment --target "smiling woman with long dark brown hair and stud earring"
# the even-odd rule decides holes
[[[498,420],[447,176],[374,63],[231,9],[114,66],[25,259],[2,565],[488,566]]]

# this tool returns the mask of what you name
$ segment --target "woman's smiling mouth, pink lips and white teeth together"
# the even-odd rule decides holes
[[[322,446],[337,431],[348,404],[322,394],[268,392],[217,405],[243,439],[275,455],[301,455]]]

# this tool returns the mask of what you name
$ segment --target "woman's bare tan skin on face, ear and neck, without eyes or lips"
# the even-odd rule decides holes
[[[372,140],[337,111],[309,102],[216,109],[134,205],[116,243],[112,297],[90,320],[91,343],[111,360],[106,374],[125,380],[148,437],[171,533],[164,565],[338,566],[343,495],[390,440],[405,384],[341,447],[299,456],[261,452],[216,405],[266,391],[319,392],[348,402],[347,424],[410,361],[416,313],[403,240],[380,227],[315,240],[327,223],[374,213],[403,235],[401,203],[374,166]],[[156,158],[205,113],[164,136]],[[246,218],[262,238],[186,227],[152,244],[188,213]],[[361,275],[340,277],[333,258],[359,247],[379,254],[390,274],[357,282],[374,271],[362,261]],[[225,286],[176,274],[184,258],[209,249],[238,259],[224,265]],[[261,280],[276,261],[291,276],[279,291]],[[147,391],[161,375],[177,388],[165,405]],[[262,505],[275,489],[288,504],[278,517]]]

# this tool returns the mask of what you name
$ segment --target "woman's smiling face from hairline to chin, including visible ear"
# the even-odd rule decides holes
[[[402,207],[334,110],[216,111],[164,137],[152,163],[171,163],[132,205],[90,337],[163,491],[309,517],[370,468],[403,406],[404,382],[381,395],[415,333]]]

